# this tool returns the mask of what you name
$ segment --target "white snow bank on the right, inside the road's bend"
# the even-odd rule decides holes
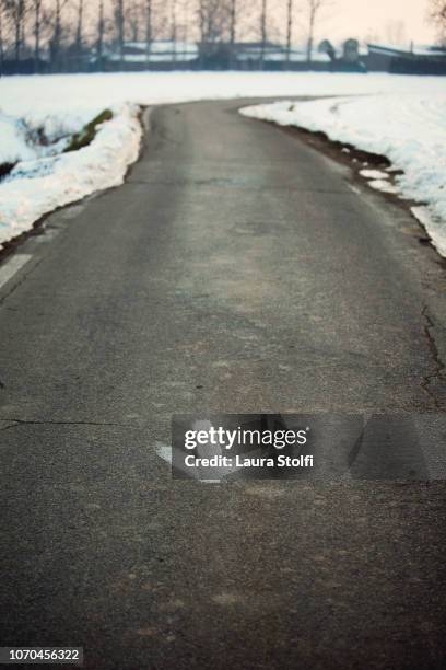
[[[245,107],[242,114],[321,130],[332,140],[386,155],[403,171],[396,177],[401,195],[426,203],[422,223],[446,256],[446,92],[433,86],[427,94],[415,78],[412,91],[398,94],[280,102]]]

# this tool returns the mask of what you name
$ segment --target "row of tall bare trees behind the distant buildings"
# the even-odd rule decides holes
[[[21,71],[99,69],[110,47],[122,62],[126,42],[144,42],[148,57],[157,39],[223,44],[256,42],[262,60],[269,42],[287,54],[295,33],[307,59],[317,20],[331,0],[0,0],[0,73],[8,61]],[[206,53],[202,48],[200,51]],[[118,60],[119,60],[118,59]],[[12,71],[13,71],[12,67]]]

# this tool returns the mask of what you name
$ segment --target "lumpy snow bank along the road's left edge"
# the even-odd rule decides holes
[[[114,109],[92,143],[79,151],[20,162],[0,182],[0,243],[32,228],[43,215],[91,193],[121,184],[141,141],[139,108]]]

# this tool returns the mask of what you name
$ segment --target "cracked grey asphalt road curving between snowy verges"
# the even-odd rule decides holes
[[[157,108],[0,292],[1,645],[85,667],[444,668],[445,484],[172,481],[173,413],[445,407],[403,208],[239,103]]]

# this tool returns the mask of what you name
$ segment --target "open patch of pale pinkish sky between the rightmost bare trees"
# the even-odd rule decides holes
[[[429,0],[332,0],[317,32],[332,39],[376,35],[387,42],[431,43],[435,28],[426,20],[427,8]]]

